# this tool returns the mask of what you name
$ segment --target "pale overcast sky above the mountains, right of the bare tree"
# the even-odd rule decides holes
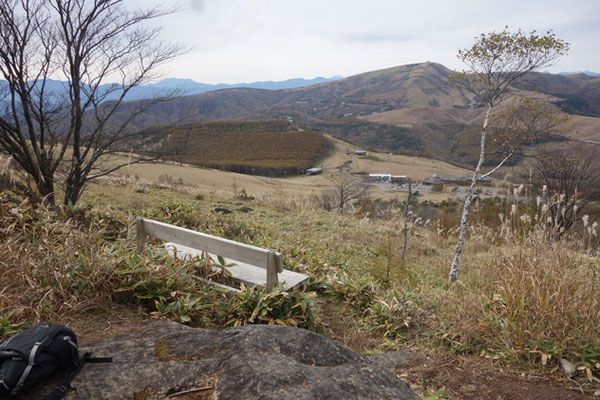
[[[159,0],[126,0],[131,7]],[[350,76],[433,61],[461,68],[482,32],[553,29],[571,44],[550,72],[600,72],[600,0],[173,0],[155,22],[191,50],[165,75],[204,83]]]

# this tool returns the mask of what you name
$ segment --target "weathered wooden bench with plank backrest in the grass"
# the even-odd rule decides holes
[[[169,252],[180,259],[204,254],[213,260],[223,257],[226,265],[236,264],[227,267],[232,279],[245,285],[282,285],[286,291],[306,287],[308,276],[284,270],[281,254],[275,251],[142,217],[136,220],[136,230],[138,253],[143,251],[147,236],[152,236],[166,242]]]

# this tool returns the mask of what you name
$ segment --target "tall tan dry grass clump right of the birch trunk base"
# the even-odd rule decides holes
[[[454,311],[442,314],[455,344],[535,361],[600,349],[597,257],[530,234],[491,249],[476,268],[456,290]]]

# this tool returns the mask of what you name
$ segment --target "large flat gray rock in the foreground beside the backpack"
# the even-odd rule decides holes
[[[297,328],[211,331],[153,321],[87,350],[114,361],[86,365],[69,399],[419,399],[389,369]]]

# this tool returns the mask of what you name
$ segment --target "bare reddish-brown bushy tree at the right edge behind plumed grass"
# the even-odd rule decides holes
[[[600,146],[563,145],[537,155],[529,167],[533,184],[541,194],[555,197],[546,203],[551,224],[559,233],[584,215],[590,202],[600,201]]]

